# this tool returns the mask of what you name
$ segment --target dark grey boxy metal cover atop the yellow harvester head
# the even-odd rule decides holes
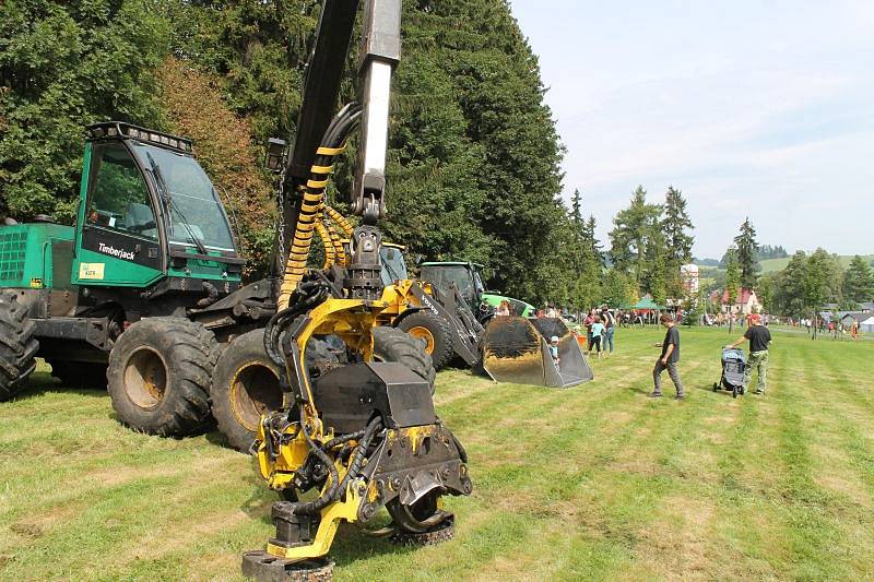
[[[390,429],[437,421],[428,382],[402,364],[334,368],[316,379],[312,392],[322,423],[338,435],[362,430],[375,412]]]

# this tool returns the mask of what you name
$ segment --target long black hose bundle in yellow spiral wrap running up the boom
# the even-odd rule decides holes
[[[285,273],[280,286],[277,306],[288,307],[292,292],[307,272],[307,258],[312,245],[312,233],[316,230],[318,213],[324,203],[324,189],[333,171],[334,157],[343,152],[345,142],[361,119],[362,108],[351,103],[343,107],[328,127],[321,145],[316,151],[316,161],[309,170],[309,179],[304,189],[300,212],[294,229],[294,238],[288,249]]]

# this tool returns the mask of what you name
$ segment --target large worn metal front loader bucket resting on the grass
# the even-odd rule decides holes
[[[558,336],[558,365],[550,355],[553,335]],[[557,318],[493,318],[485,330],[483,368],[498,382],[552,388],[594,378],[577,337]]]

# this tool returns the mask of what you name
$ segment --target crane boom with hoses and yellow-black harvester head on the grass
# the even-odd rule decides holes
[[[356,1],[326,1],[305,82],[305,104],[310,92],[320,93],[317,88],[326,83],[336,87],[332,80],[339,81],[342,72],[356,12]],[[391,305],[383,300],[382,237],[377,224],[386,213],[389,95],[400,59],[400,0],[365,2],[362,105],[343,107],[327,123],[306,180],[287,191],[293,202],[292,212],[285,214],[290,227],[282,229],[288,235],[284,237],[288,252],[279,310],[263,332],[264,348],[279,369],[287,399],[280,409],[262,415],[255,443],[261,475],[286,500],[273,506],[276,532],[267,548],[244,555],[246,575],[263,580],[329,575],[331,562],[324,556],[340,522],[369,521],[383,506],[392,516],[386,533],[413,543],[448,538],[453,516],[440,499],[472,490],[464,449],[435,414],[430,358],[422,344],[392,330],[395,343],[418,348],[411,349],[410,358],[420,361],[374,357],[375,336],[380,333],[375,330]],[[329,57],[334,66],[318,64]],[[319,102],[321,109],[333,106],[336,91],[327,97]],[[312,270],[307,266],[312,237],[326,241],[328,178],[358,124],[352,202],[361,225],[352,230],[346,261],[339,260],[343,249],[333,246],[334,258],[327,252],[323,269]],[[299,134],[297,142],[295,149],[300,146]],[[296,161],[298,154],[293,152],[286,175],[295,173]],[[332,240],[330,231],[327,240]],[[318,377],[307,366],[315,335],[342,341],[346,360]],[[236,349],[235,344],[226,351]],[[315,491],[315,499],[302,497],[307,491]]]

